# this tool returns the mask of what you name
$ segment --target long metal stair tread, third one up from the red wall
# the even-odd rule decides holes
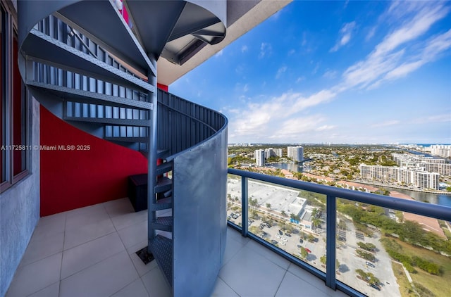
[[[152,103],[146,101],[138,101],[106,94],[99,94],[93,91],[83,91],[80,89],[56,86],[54,84],[36,82],[35,80],[27,80],[25,84],[27,84],[28,87],[43,89],[44,91],[54,93],[56,94],[56,96],[61,98],[61,101],[73,101],[79,103],[93,103],[106,106],[152,110]]]

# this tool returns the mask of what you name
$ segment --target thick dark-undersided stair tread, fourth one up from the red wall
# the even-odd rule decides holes
[[[74,49],[72,46],[68,46],[36,29],[30,31],[29,36],[23,43],[23,49],[27,52],[27,58],[30,60],[41,61],[64,70],[89,75],[124,87],[139,88],[142,91],[156,91],[152,84],[114,68],[112,65]]]

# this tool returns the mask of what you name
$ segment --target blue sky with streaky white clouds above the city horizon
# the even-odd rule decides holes
[[[293,1],[169,91],[229,143],[451,143],[451,2]]]

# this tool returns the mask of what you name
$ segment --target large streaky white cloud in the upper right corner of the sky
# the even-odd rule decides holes
[[[402,23],[401,27],[397,27],[388,34],[363,61],[345,70],[344,83],[341,87],[345,89],[355,86],[376,88],[385,80],[404,77],[421,65],[433,61],[438,54],[450,48],[451,30],[426,42],[419,41],[417,46],[411,44],[449,12],[449,8],[439,2],[413,7],[421,9]],[[413,8],[409,9],[413,10]],[[400,48],[403,45],[404,47]]]

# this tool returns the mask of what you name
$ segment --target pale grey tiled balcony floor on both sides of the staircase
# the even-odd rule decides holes
[[[42,217],[6,297],[171,296],[144,246],[147,211],[128,198]],[[213,296],[347,295],[229,228]]]

